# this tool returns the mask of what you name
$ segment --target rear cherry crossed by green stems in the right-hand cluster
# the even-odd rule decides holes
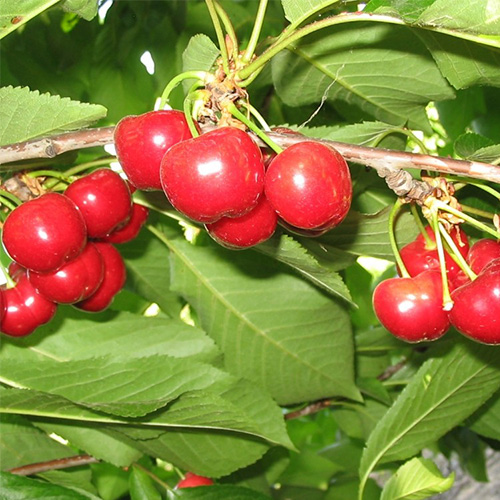
[[[417,276],[429,269],[440,269],[439,255],[435,244],[436,236],[430,226],[427,226],[425,230],[433,242],[432,245],[428,245],[424,236],[419,234],[413,242],[408,243],[400,251],[401,258],[410,276]],[[450,236],[465,258],[469,251],[469,240],[465,232],[459,226],[454,226]],[[460,266],[446,250],[445,264],[448,282],[452,288],[462,285],[467,280]]]

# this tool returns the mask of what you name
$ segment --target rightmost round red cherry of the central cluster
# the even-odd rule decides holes
[[[305,141],[271,161],[265,193],[286,223],[300,229],[331,229],[342,222],[351,206],[351,176],[340,153]]]

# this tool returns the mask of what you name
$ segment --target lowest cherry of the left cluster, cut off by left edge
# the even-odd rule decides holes
[[[16,281],[13,288],[0,287],[5,310],[0,330],[11,337],[23,337],[48,323],[57,305],[35,290],[25,271],[18,270],[13,279]]]

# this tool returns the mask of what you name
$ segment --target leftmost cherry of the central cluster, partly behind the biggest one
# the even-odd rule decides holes
[[[161,190],[160,163],[174,144],[192,137],[184,113],[150,111],[118,122],[114,139],[118,161],[128,180],[142,190]]]

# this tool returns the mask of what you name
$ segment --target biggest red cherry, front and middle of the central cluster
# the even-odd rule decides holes
[[[223,127],[172,146],[160,167],[170,203],[191,219],[210,223],[240,217],[257,204],[264,164],[248,134]]]

